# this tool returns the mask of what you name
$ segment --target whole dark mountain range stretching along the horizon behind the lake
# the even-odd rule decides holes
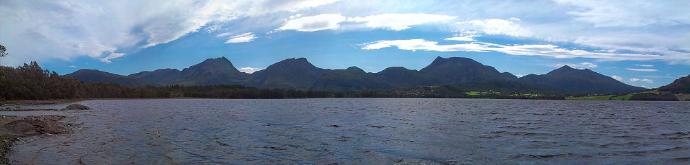
[[[358,67],[322,69],[306,58],[288,58],[246,74],[239,72],[227,58],[210,58],[182,69],[157,69],[128,76],[97,70],[81,69],[67,76],[82,81],[106,81],[130,86],[146,85],[244,85],[259,88],[308,89],[317,91],[355,91],[395,89],[424,85],[466,85],[498,80],[515,87],[548,87],[562,92],[579,94],[610,94],[644,91],[621,83],[589,69],[560,67],[548,74],[517,78],[508,72],[482,65],[471,58],[437,57],[419,71],[404,67],[388,67],[378,73],[368,73]],[[515,85],[508,85],[508,84]]]

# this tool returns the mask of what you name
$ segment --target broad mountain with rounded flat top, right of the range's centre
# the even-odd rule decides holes
[[[439,84],[472,83],[493,79],[517,80],[513,74],[501,74],[493,67],[464,57],[437,57],[430,65],[421,69],[420,74],[439,78]]]

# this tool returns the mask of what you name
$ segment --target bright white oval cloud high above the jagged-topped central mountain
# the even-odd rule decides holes
[[[339,23],[345,21],[345,19],[346,17],[340,14],[319,14],[301,17],[288,20],[285,25],[274,31],[297,30],[299,32],[314,32],[319,30],[335,30],[340,27]]]

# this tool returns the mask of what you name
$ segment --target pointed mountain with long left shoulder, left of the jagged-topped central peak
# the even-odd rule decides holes
[[[159,82],[161,85],[239,85],[249,74],[239,72],[228,58],[206,59],[197,65],[182,69],[157,69],[139,72],[130,77]]]

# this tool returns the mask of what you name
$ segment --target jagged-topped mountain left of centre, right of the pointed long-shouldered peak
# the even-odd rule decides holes
[[[306,58],[288,58],[254,72],[246,85],[260,88],[306,89],[328,69],[315,67]]]

